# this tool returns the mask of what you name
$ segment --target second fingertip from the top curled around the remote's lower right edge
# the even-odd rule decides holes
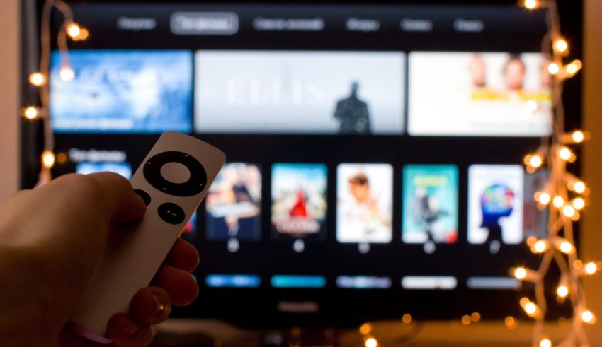
[[[171,305],[188,305],[198,295],[198,285],[191,274],[171,265],[162,265],[153,283],[169,293]]]

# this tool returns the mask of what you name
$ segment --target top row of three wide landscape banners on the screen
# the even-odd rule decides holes
[[[72,49],[69,59],[74,78],[64,81],[52,54],[57,132],[551,131],[552,79],[540,53]]]

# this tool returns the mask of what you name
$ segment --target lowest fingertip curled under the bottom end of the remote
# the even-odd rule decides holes
[[[120,347],[148,346],[152,341],[152,329],[140,324],[125,313],[114,314],[107,324],[107,335]]]

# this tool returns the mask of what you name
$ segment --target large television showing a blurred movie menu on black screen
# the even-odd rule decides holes
[[[36,4],[24,16],[37,18]],[[53,175],[130,177],[167,130],[227,154],[183,231],[200,253],[200,295],[176,317],[263,329],[406,313],[521,317],[518,298],[533,288],[509,269],[537,264],[525,241],[547,233],[547,211],[533,201],[547,172],[522,165],[552,129],[544,10],[515,1],[69,6],[89,37],[69,42],[71,81],[57,47],[50,56],[62,158]],[[580,6],[567,13],[580,18]],[[574,23],[567,32],[579,40]],[[31,60],[39,37],[23,30]],[[25,61],[23,76],[34,70]],[[577,81],[567,82],[567,129],[581,122]],[[29,86],[23,98],[35,100]],[[22,134],[26,188],[37,180],[40,123],[24,121]],[[551,304],[550,317],[568,312]]]

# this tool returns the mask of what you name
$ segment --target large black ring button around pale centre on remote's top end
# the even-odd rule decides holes
[[[161,167],[167,163],[180,163],[188,169],[190,177],[183,183],[166,180],[161,175]],[[205,168],[193,156],[183,152],[170,151],[154,155],[144,164],[144,178],[159,191],[175,196],[193,196],[203,192],[207,186]]]

